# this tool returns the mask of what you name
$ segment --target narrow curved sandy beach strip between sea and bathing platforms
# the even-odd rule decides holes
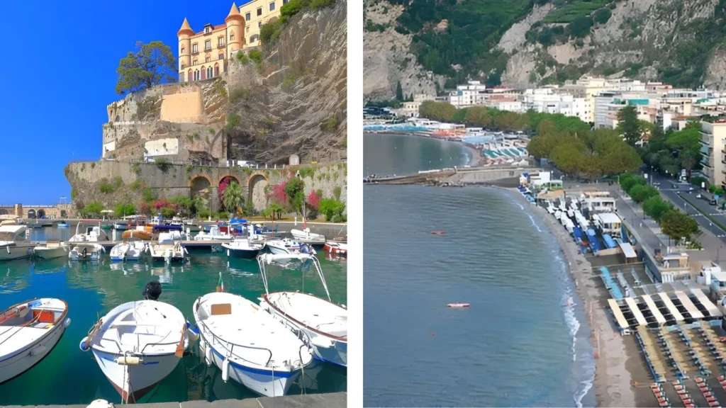
[[[647,388],[643,388],[643,391],[648,392],[639,392],[639,395],[636,396],[635,390],[631,386],[634,380],[648,382],[648,373],[645,372],[643,362],[640,362],[635,342],[630,338],[623,338],[619,332],[613,329],[607,314],[608,296],[604,290],[597,287],[597,274],[592,272],[590,262],[582,253],[579,253],[566,229],[544,208],[531,205],[515,189],[503,190],[510,192],[515,200],[526,205],[526,211],[537,214],[539,219],[549,227],[569,264],[570,274],[576,283],[577,293],[586,314],[592,310],[589,322],[593,330],[591,340],[596,353],[599,349],[599,355],[596,355],[597,368],[594,383],[597,406],[646,407],[653,404],[655,401]],[[597,343],[599,343],[599,347]],[[637,375],[634,376],[631,372],[635,372]]]

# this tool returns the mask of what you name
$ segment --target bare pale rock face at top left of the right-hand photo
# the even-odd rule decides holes
[[[442,81],[442,77],[434,76],[417,62],[410,50],[412,34],[394,30],[404,7],[366,0],[364,9],[366,20],[370,20],[363,34],[364,100],[393,99],[399,81],[406,96],[435,95],[436,81]]]

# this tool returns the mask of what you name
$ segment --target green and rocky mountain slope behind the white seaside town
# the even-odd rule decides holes
[[[379,63],[365,66],[377,84],[367,95],[395,89],[386,73],[410,57],[407,71],[430,71],[447,88],[467,78],[524,87],[586,74],[726,87],[726,0],[390,1],[366,2],[387,13],[367,12],[364,44],[407,38],[409,47],[379,50]]]

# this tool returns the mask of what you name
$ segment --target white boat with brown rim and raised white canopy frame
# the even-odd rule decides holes
[[[325,275],[317,258],[306,253],[265,253],[257,257],[257,262],[265,286],[260,306],[276,319],[282,320],[296,335],[309,341],[318,359],[348,367],[348,309],[330,300]],[[298,269],[302,269],[305,264],[314,265],[325,288],[327,300],[302,292],[269,293],[266,266],[271,264],[283,269],[290,269],[290,265],[298,266]],[[303,288],[304,278],[303,273]]]

